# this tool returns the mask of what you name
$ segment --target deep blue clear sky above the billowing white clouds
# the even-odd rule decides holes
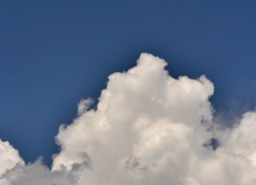
[[[256,105],[255,1],[2,1],[0,138],[51,164],[60,124],[141,52],[206,75],[223,124]]]

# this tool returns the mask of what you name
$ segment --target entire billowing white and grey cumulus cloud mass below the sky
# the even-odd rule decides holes
[[[51,169],[40,159],[25,165],[0,141],[0,184],[256,184],[256,113],[220,130],[212,82],[172,78],[166,66],[142,53],[108,77],[96,109],[81,100],[78,117],[59,128]]]

